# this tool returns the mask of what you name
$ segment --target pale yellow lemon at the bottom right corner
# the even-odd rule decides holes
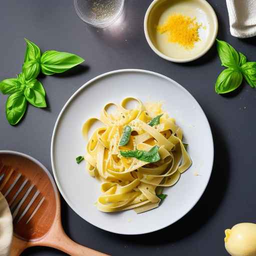
[[[224,241],[232,256],[256,256],[256,224],[239,223],[226,229]]]

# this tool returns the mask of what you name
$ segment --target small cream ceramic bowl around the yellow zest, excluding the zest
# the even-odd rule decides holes
[[[196,22],[202,23],[198,30],[200,40],[195,42],[192,49],[168,42],[167,33],[156,31],[156,26],[175,12],[196,17]],[[214,43],[217,30],[216,14],[205,0],[153,0],[144,18],[144,32],[149,46],[157,55],[173,62],[188,62],[205,54]]]

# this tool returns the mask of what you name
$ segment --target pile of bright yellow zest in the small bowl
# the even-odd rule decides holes
[[[198,29],[202,24],[180,13],[174,13],[168,17],[166,22],[157,26],[160,33],[168,33],[168,41],[176,42],[186,49],[191,49],[196,41],[199,41]]]

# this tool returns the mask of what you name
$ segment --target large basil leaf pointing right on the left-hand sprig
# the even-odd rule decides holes
[[[72,53],[47,50],[41,56],[41,71],[47,75],[61,73],[83,61],[83,58]]]

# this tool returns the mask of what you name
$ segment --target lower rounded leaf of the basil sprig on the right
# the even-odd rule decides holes
[[[242,82],[242,74],[231,67],[224,69],[217,77],[215,91],[217,93],[227,93],[237,87]]]

